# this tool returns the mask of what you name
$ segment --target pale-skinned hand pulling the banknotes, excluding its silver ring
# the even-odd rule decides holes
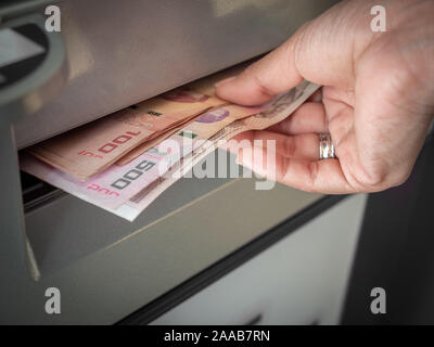
[[[386,33],[371,30],[376,4],[386,9]],[[258,105],[303,79],[324,87],[282,123],[235,139],[276,140],[276,180],[305,191],[401,184],[434,115],[434,1],[340,2],[216,90],[228,101]],[[330,132],[337,158],[319,160],[321,132]],[[275,177],[242,152],[238,159]]]

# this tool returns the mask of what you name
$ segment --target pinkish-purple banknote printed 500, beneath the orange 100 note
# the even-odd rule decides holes
[[[116,209],[155,181],[186,154],[200,147],[225,126],[258,112],[258,107],[225,105],[212,108],[179,129],[158,146],[128,164],[112,165],[86,181],[42,163],[31,155],[21,156],[21,167],[48,183],[106,209]]]

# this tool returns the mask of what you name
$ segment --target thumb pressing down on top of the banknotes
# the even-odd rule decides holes
[[[303,79],[342,88],[352,86],[353,50],[357,49],[354,38],[360,25],[348,15],[355,11],[347,8],[350,5],[354,3],[339,3],[302,26],[288,41],[239,76],[217,83],[217,95],[242,105],[258,105]],[[369,11],[365,12],[369,16]],[[369,18],[362,16],[361,20]],[[370,31],[369,25],[361,27]]]

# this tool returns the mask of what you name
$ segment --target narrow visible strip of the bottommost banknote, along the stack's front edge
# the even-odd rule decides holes
[[[215,133],[203,146],[193,149],[176,163],[169,172],[149,184],[133,198],[113,213],[130,221],[135,220],[157,196],[174,184],[179,178],[214,151],[219,144],[228,141],[240,132],[247,130],[266,129],[291,115],[320,86],[303,81],[289,92],[280,94],[255,115],[233,121]]]

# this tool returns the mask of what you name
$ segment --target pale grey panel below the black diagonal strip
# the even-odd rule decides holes
[[[339,324],[366,202],[342,201],[152,324]]]

